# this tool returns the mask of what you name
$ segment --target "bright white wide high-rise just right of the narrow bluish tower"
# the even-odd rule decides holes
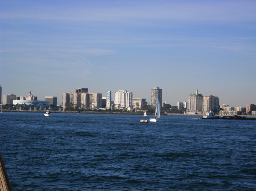
[[[116,109],[132,109],[132,92],[119,90],[115,92],[114,100]]]

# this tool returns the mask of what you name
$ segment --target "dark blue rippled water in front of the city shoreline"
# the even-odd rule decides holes
[[[0,151],[13,190],[256,190],[256,121],[140,119],[3,112]]]

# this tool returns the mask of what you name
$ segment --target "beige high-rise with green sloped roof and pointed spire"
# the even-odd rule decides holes
[[[198,90],[196,90],[196,93],[190,93],[187,99],[187,109],[188,111],[200,111],[203,109],[203,95],[201,93],[198,93]]]

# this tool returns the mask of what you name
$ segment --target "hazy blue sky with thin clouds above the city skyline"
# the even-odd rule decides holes
[[[0,1],[2,95],[84,87],[256,103],[256,1]]]

